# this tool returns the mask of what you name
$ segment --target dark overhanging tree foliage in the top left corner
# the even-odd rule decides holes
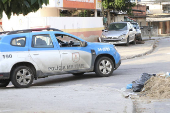
[[[0,18],[2,18],[3,12],[8,18],[12,14],[23,14],[25,16],[42,8],[43,4],[49,4],[49,0],[0,0]]]

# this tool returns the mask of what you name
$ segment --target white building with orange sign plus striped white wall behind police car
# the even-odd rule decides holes
[[[97,17],[100,9],[101,0],[49,0],[49,5],[44,5],[35,13],[13,15],[10,20],[4,15],[2,26],[6,31],[50,26],[94,42],[104,29],[103,18]],[[93,10],[94,16],[60,17],[63,10]]]

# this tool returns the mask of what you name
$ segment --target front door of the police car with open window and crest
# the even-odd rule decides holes
[[[59,44],[63,71],[81,71],[91,68],[91,49],[81,47],[82,41],[70,34],[55,34]]]

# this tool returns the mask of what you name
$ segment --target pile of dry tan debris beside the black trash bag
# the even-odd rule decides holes
[[[170,77],[152,76],[145,83],[141,93],[152,99],[170,98]]]

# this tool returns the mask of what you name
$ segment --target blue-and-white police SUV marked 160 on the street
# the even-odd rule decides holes
[[[95,72],[106,77],[120,64],[114,45],[86,42],[54,28],[0,35],[0,87],[11,81],[17,88],[26,88],[34,79],[66,73],[80,76]]]

